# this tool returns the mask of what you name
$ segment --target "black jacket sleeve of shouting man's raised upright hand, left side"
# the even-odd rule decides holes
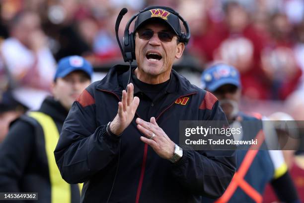
[[[95,100],[84,90],[70,109],[54,151],[62,178],[70,184],[85,182],[108,166],[119,147],[120,137],[106,133],[106,125],[97,126]]]

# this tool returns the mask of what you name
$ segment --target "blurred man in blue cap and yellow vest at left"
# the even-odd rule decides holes
[[[0,146],[0,192],[37,193],[38,203],[79,203],[81,185],[61,178],[54,150],[69,110],[91,83],[92,73],[91,64],[80,56],[59,61],[53,97],[14,121]]]

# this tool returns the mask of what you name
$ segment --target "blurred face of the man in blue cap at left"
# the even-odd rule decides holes
[[[52,92],[66,109],[70,109],[76,98],[91,83],[88,76],[82,71],[74,71],[64,78],[57,78],[53,83]]]

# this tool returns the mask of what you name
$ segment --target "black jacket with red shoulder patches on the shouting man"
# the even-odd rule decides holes
[[[140,140],[139,113],[120,137],[106,133],[128,76],[127,66],[115,66],[74,102],[55,150],[62,177],[68,183],[84,182],[83,203],[107,202],[111,190],[111,203],[193,203],[200,202],[200,195],[220,197],[235,171],[233,151],[184,150],[171,164]],[[175,91],[167,94],[155,118],[173,142],[179,143],[180,120],[226,120],[211,93],[173,70],[172,77]],[[175,103],[185,96],[185,105]]]

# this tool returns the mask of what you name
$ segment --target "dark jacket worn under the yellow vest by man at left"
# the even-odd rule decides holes
[[[47,98],[39,111],[50,115],[61,131],[68,111],[59,102]],[[44,134],[40,124],[31,117],[22,116],[16,120],[0,146],[0,192],[35,192],[38,201],[34,203],[51,203]],[[78,203],[78,186],[71,185],[71,192],[71,202]]]

